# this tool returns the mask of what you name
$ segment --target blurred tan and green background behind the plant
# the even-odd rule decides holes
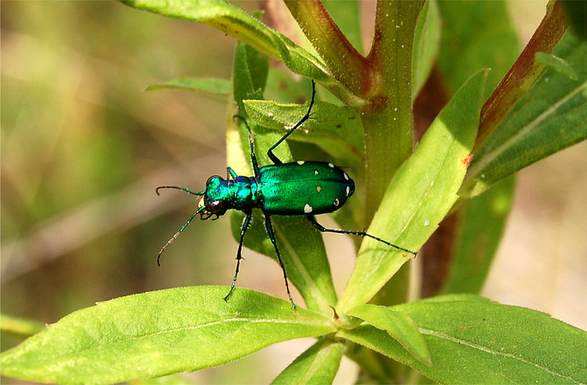
[[[522,42],[544,6],[512,2]],[[158,251],[197,200],[154,192],[168,184],[198,190],[208,176],[225,174],[225,101],[143,90],[180,76],[230,79],[234,40],[118,2],[2,1],[0,7],[2,313],[51,323],[137,292],[229,285],[237,243],[227,219],[194,221],[157,267]],[[583,329],[585,154],[579,144],[521,173],[484,291]],[[335,237],[326,237],[329,250],[340,243]],[[330,253],[339,291],[352,268],[351,244],[345,240],[348,250]],[[279,267],[248,250],[245,258],[238,286],[284,297]],[[2,336],[1,348],[18,342]],[[193,380],[267,382],[309,343],[279,346]],[[252,369],[269,357],[266,373]],[[353,370],[346,366],[342,382]]]

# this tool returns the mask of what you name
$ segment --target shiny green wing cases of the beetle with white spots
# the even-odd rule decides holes
[[[264,211],[272,215],[302,216],[332,213],[345,204],[355,182],[332,163],[292,162],[259,170]]]

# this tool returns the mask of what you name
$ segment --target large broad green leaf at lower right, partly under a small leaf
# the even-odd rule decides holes
[[[468,296],[471,298],[471,296]],[[417,301],[393,306],[424,335],[433,366],[373,326],[338,335],[438,383],[587,383],[587,333],[548,314],[487,301]]]

